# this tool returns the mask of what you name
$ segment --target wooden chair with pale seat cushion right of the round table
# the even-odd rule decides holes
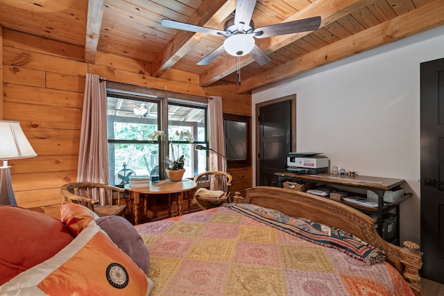
[[[197,186],[193,204],[197,204],[202,210],[207,208],[200,202],[205,202],[207,207],[220,206],[230,198],[229,188],[232,180],[232,175],[222,171],[207,171],[196,175],[194,182]]]

